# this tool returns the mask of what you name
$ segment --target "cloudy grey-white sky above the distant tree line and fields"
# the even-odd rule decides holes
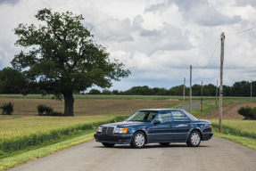
[[[148,85],[169,89],[192,83],[216,85],[220,35],[225,33],[223,84],[256,80],[256,0],[0,0],[0,69],[11,67],[13,29],[38,26],[37,11],[82,14],[84,26],[131,71],[110,90]]]

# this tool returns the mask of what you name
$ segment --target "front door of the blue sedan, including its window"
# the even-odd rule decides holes
[[[161,111],[155,121],[157,124],[148,128],[148,137],[150,142],[172,142],[175,134],[175,127],[171,122],[170,111]]]

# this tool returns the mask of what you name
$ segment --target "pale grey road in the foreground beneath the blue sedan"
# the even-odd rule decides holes
[[[129,145],[104,148],[95,140],[37,159],[11,171],[255,171],[256,151],[212,137],[197,148],[186,143],[169,147],[147,144],[144,149]]]

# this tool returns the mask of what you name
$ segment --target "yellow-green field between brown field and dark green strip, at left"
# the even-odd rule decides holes
[[[55,129],[78,126],[92,122],[113,119],[115,116],[78,117],[39,117],[39,116],[0,116],[0,137],[12,139],[29,134],[45,134]]]

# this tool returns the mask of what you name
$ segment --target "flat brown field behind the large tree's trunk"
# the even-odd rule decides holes
[[[64,102],[49,99],[0,98],[3,102],[13,102],[13,115],[37,115],[37,105],[46,104],[54,111],[64,110]],[[131,115],[136,110],[145,108],[167,108],[178,101],[169,100],[116,100],[116,99],[76,99],[74,113],[86,115]]]

